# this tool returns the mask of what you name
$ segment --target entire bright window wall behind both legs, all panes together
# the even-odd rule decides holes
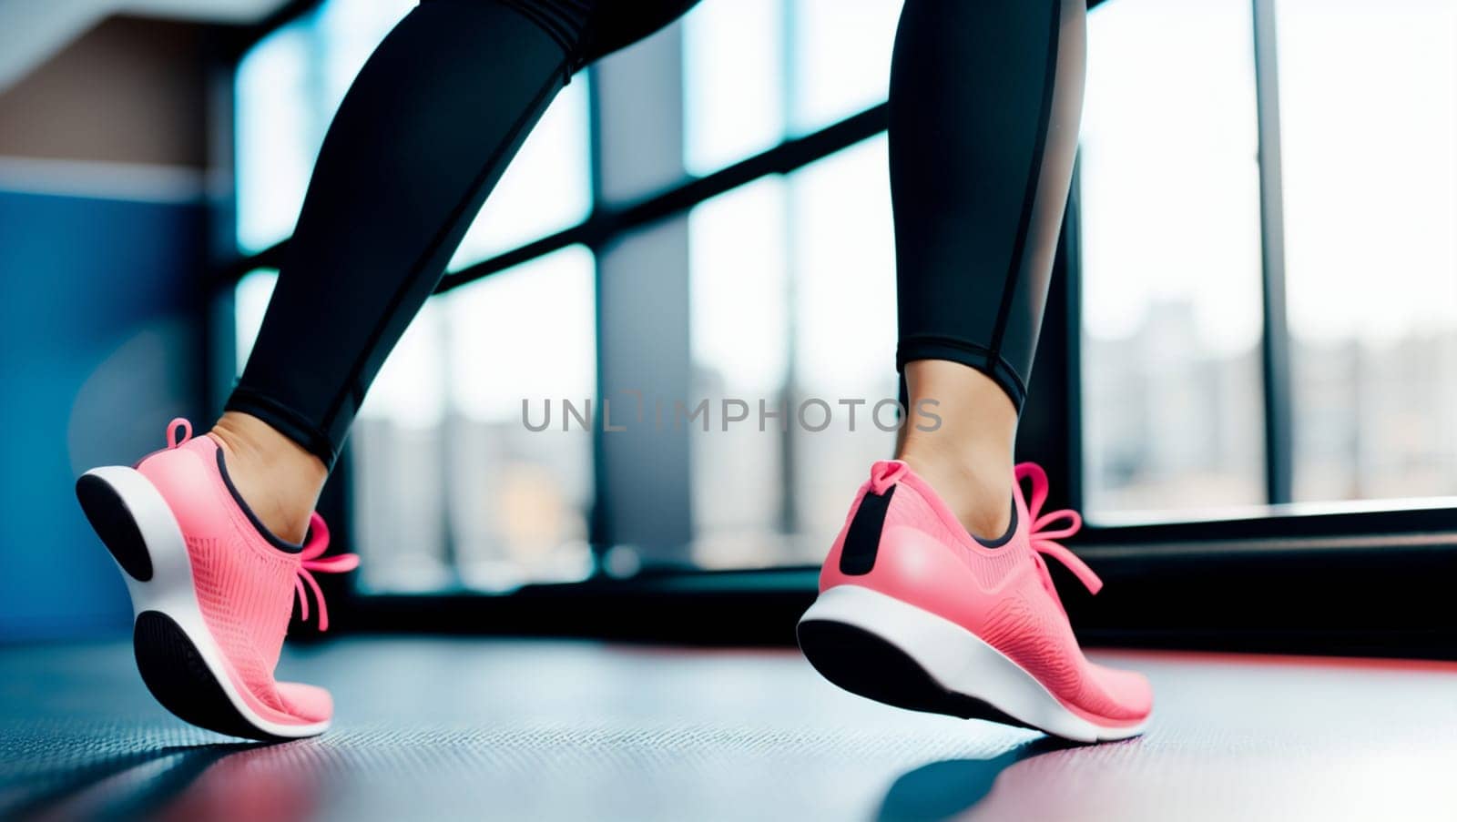
[[[326,0],[243,58],[243,255],[290,233],[332,111],[411,6]],[[896,396],[883,103],[899,10],[704,0],[567,86],[361,410],[347,480],[370,590],[823,557],[893,443],[868,408]],[[634,98],[612,61],[680,98]],[[1099,4],[1077,310],[1039,351],[1078,351],[1064,370],[1081,396],[1052,417],[1081,472],[1058,482],[1094,531],[1457,494],[1454,146],[1450,0]],[[236,287],[239,363],[272,277]],[[653,351],[664,332],[661,360],[624,377],[613,345]],[[600,415],[624,388],[708,401],[708,430],[624,456]],[[546,398],[593,399],[596,430],[527,430],[522,401]],[[723,430],[726,401],[747,421]],[[865,402],[854,430],[842,401]],[[782,426],[761,404],[809,410]],[[624,494],[661,504],[634,513]],[[632,517],[685,528],[647,528],[678,542],[632,551]]]

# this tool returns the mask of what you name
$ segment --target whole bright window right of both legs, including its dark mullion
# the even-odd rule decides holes
[[[1457,493],[1457,6],[1253,9],[1260,32],[1247,0],[1090,20],[1094,519]]]

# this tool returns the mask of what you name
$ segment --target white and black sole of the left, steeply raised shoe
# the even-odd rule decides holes
[[[119,465],[93,468],[77,480],[76,496],[127,582],[137,669],[163,707],[192,724],[249,739],[328,730],[328,720],[270,721],[242,698],[203,619],[182,529],[146,477]]]

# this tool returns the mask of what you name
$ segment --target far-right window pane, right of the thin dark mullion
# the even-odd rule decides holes
[[[1457,3],[1275,9],[1294,498],[1457,494]]]

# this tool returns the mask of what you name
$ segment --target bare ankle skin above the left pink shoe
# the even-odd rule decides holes
[[[262,420],[227,411],[208,436],[223,450],[229,478],[254,516],[280,539],[302,542],[328,478],[312,453]]]

